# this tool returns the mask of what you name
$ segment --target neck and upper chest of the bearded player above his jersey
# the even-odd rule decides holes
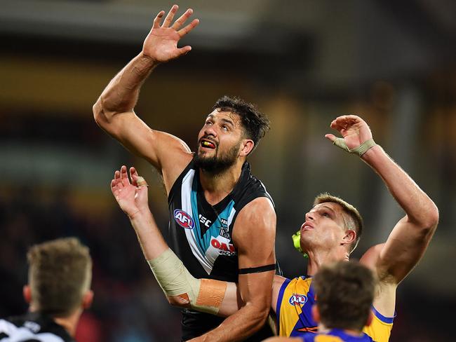
[[[204,197],[210,205],[219,203],[233,191],[241,177],[242,165],[243,163],[236,163],[217,175],[199,170],[199,182],[203,188]]]

